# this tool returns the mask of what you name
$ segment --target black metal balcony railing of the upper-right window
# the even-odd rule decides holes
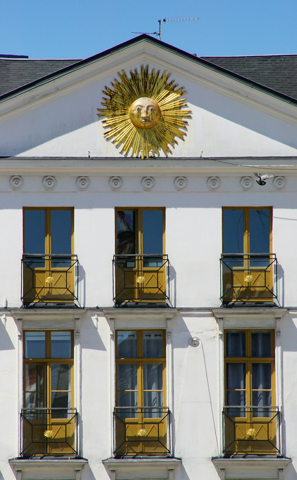
[[[223,302],[277,299],[275,253],[222,253],[220,268]]]

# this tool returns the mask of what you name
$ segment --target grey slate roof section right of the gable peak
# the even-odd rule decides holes
[[[297,55],[201,58],[297,99]]]

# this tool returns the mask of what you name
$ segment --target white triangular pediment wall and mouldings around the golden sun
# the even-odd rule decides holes
[[[114,136],[104,137],[108,128],[104,129],[104,117],[100,118],[97,114],[98,109],[106,108],[106,92],[113,92],[116,82],[121,89],[123,75],[127,78],[125,88],[129,89],[134,82],[130,72],[132,76],[135,72],[140,75],[142,66],[144,70],[148,66],[149,75],[153,71],[159,72],[159,80],[164,72],[170,73],[166,85],[174,80],[174,92],[181,87],[186,92],[182,91],[183,95],[179,97],[184,98],[179,113],[174,108],[161,111],[161,118],[165,118],[166,111],[171,125],[177,126],[180,135],[173,127],[171,129],[170,122],[164,126],[158,120],[159,137],[155,125],[149,127],[146,135],[149,137],[155,132],[159,147],[152,155],[230,157],[297,154],[296,100],[151,37],[140,36],[51,73],[9,95],[0,96],[0,156],[138,156],[139,153],[135,152],[141,148],[133,150],[133,144],[123,150],[124,134],[123,142],[117,144],[113,143]],[[146,92],[142,91],[139,96],[147,97]],[[151,95],[156,93],[151,92]],[[192,112],[192,118],[185,116],[183,121],[188,124],[181,123],[182,112],[187,109]],[[123,117],[123,124],[125,121],[129,123]],[[124,132],[125,125],[121,128],[119,124],[119,135]],[[137,128],[141,130],[141,127]],[[14,132],[13,142],[11,132]],[[141,141],[141,134],[140,140],[136,136],[134,142]],[[168,141],[168,150],[160,145],[161,134]]]

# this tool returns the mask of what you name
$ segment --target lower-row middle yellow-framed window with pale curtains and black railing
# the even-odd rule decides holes
[[[115,334],[114,455],[170,454],[163,330]]]

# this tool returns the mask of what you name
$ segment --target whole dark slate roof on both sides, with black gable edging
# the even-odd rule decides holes
[[[168,49],[252,88],[265,91],[297,105],[297,55],[251,57],[197,57],[146,34],[84,60],[20,60],[0,58],[0,100],[33,87],[56,74],[67,73],[94,60],[109,56],[142,40]],[[60,72],[59,72],[60,71]]]

